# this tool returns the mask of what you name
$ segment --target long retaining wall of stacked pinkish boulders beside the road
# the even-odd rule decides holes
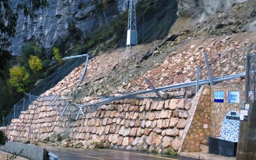
[[[16,141],[44,140],[56,132],[68,134],[73,143],[85,145],[90,139],[101,139],[105,147],[162,152],[169,147],[178,150],[191,108],[190,99],[119,100],[73,120],[78,112],[73,105],[64,117],[60,116],[70,99],[61,96],[49,107],[53,100],[54,97],[34,102],[19,119],[1,129],[10,140]],[[96,101],[85,97],[83,103]]]

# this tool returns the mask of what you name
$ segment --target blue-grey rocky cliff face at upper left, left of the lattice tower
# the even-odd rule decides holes
[[[12,8],[17,6],[12,1]],[[16,37],[11,40],[12,55],[19,55],[20,48],[26,40],[36,40],[46,50],[57,41],[69,37],[69,23],[73,23],[82,36],[89,36],[94,28],[105,22],[103,12],[97,12],[100,3],[93,0],[49,0],[49,8],[37,11],[38,18],[34,21],[26,19],[22,14],[17,21]],[[112,16],[127,9],[127,0],[117,0],[106,10],[106,16]],[[74,26],[73,26],[74,27]],[[83,34],[83,31],[85,34]],[[81,37],[83,38],[83,37]]]

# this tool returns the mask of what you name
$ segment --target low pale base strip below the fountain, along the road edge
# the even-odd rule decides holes
[[[203,152],[180,152],[179,156],[185,156],[199,160],[236,160],[236,157],[219,156]]]

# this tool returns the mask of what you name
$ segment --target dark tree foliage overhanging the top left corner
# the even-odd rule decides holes
[[[18,0],[16,8],[11,8],[11,0],[0,0],[0,77],[7,68],[12,55],[8,51],[11,43],[8,40],[16,34],[19,14],[22,12],[31,20],[37,18],[35,9],[48,7],[47,0]]]

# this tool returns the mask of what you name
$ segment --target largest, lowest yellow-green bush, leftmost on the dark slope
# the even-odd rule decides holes
[[[26,92],[29,84],[29,74],[26,69],[24,67],[16,66],[9,71],[10,79],[8,80],[8,86],[18,93]]]

